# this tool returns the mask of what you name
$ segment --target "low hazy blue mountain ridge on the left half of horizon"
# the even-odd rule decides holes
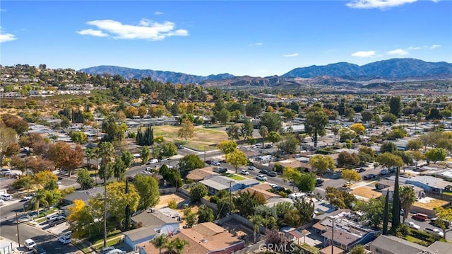
[[[169,83],[200,83],[205,80],[222,80],[231,79],[234,76],[231,74],[217,74],[209,76],[196,76],[190,74],[184,74],[174,71],[154,71],[151,69],[131,69],[126,67],[116,67],[110,65],[101,65],[98,67],[90,67],[81,69],[88,74],[119,74],[126,79],[143,79],[145,77],[150,77],[156,81],[169,82]]]

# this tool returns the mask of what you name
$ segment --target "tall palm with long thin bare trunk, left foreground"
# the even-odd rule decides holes
[[[112,168],[112,158],[115,153],[114,146],[110,142],[102,142],[97,148],[104,178],[104,247],[107,247],[107,179],[112,175],[110,168]]]

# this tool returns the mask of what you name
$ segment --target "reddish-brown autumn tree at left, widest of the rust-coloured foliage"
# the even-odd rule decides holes
[[[55,163],[57,169],[66,169],[69,171],[70,176],[74,169],[81,166],[84,158],[81,145],[77,144],[76,147],[72,149],[66,142],[49,144],[47,157]]]

